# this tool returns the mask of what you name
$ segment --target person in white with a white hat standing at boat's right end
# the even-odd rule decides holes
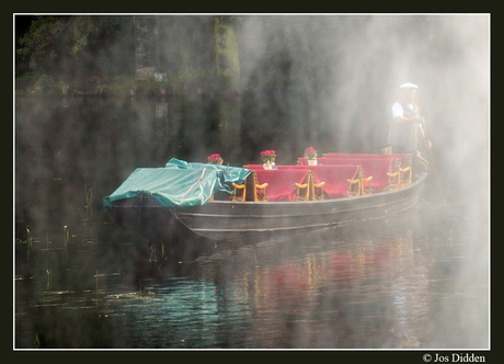
[[[416,169],[420,167],[417,159],[421,158],[419,140],[422,138],[427,148],[431,148],[431,141],[425,139],[422,129],[425,120],[421,116],[416,103],[416,89],[419,87],[414,83],[403,83],[400,88],[402,98],[392,105],[393,118],[390,122],[387,144],[392,147],[394,153],[413,155],[413,169]]]

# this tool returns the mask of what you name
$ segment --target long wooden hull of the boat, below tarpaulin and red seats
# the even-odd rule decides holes
[[[153,197],[140,196],[114,203],[111,214],[124,228],[172,246],[194,238],[204,244],[261,240],[409,209],[419,201],[425,179],[426,174],[421,174],[394,191],[307,202],[210,201],[203,206],[168,209]]]

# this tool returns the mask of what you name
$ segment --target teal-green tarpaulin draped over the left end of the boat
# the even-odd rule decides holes
[[[161,206],[196,206],[215,193],[231,194],[250,174],[249,169],[171,159],[164,168],[137,168],[113,194],[103,200],[106,208],[117,200],[152,195]]]

